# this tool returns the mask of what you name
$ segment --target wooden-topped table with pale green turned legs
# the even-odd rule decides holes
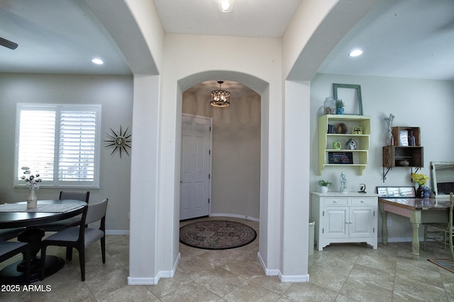
[[[378,207],[382,214],[382,243],[388,244],[387,214],[407,217],[412,229],[411,257],[413,260],[419,260],[419,226],[423,222],[448,219],[449,205],[447,199],[380,197]]]

